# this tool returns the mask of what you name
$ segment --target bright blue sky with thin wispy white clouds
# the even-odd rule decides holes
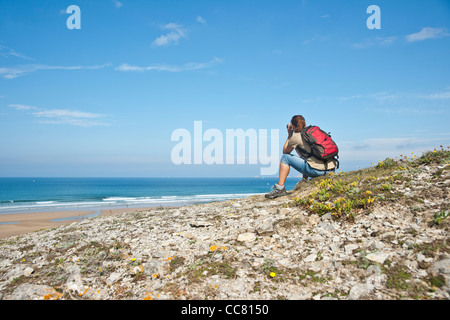
[[[343,171],[446,147],[448,57],[445,0],[1,1],[0,176],[256,176],[174,165],[172,132],[279,129],[281,155],[295,114]]]

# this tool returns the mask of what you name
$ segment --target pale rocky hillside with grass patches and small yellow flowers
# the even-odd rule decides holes
[[[449,152],[0,241],[0,298],[450,297]]]

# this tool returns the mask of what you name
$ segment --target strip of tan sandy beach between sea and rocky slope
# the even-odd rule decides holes
[[[121,208],[99,210],[99,216],[109,216],[120,213],[141,212],[151,208]],[[57,226],[80,221],[84,216],[94,214],[98,211],[57,211],[57,212],[36,212],[36,213],[14,213],[0,215],[0,239],[11,236],[18,236],[41,229],[49,229]],[[65,219],[67,218],[67,219]],[[61,221],[52,221],[64,219]]]

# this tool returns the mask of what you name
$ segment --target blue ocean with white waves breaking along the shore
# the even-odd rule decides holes
[[[288,178],[292,189],[298,178]],[[0,178],[0,214],[180,206],[264,194],[273,178]]]

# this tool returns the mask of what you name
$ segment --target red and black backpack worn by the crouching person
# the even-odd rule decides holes
[[[311,156],[324,161],[334,159],[339,167],[337,144],[331,139],[330,133],[326,133],[318,126],[308,126],[302,130],[302,137],[311,147]]]

